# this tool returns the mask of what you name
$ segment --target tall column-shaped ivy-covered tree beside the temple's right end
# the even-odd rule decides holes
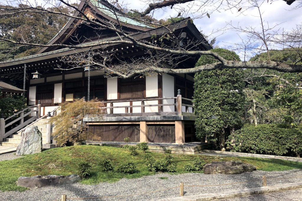
[[[229,50],[211,50],[227,60],[240,60]],[[214,57],[203,55],[196,66],[217,62]],[[242,124],[245,105],[243,70],[209,70],[194,77],[194,105],[196,136],[217,141],[221,149],[230,132]]]

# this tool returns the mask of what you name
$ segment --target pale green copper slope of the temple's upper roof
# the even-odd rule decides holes
[[[147,24],[141,23],[140,21],[136,21],[132,18],[128,18],[127,16],[121,16],[121,15],[115,15],[113,10],[111,8],[108,8],[106,5],[98,2],[98,0],[90,0],[90,2],[95,5],[95,7],[97,7],[101,12],[103,12],[104,14],[108,15],[111,18],[118,18],[119,21],[122,21],[124,23],[127,24],[133,24],[133,25],[137,25],[137,26],[141,26],[141,27],[147,27],[147,28],[153,28],[150,27]]]

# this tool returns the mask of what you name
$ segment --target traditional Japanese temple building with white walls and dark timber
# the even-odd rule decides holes
[[[152,35],[169,33],[164,27],[154,28],[148,24],[127,18],[118,8],[109,6],[104,0],[81,1],[79,10],[89,18],[100,23],[119,23],[123,31],[137,40],[151,41]],[[81,16],[79,12],[74,15]],[[117,18],[118,20],[117,20]],[[79,25],[81,24],[81,25]],[[192,22],[180,20],[169,25],[170,30],[179,36],[181,43],[197,41],[197,50],[209,50],[200,31]],[[99,41],[111,41],[118,36],[114,31],[95,28],[94,25],[80,23],[71,18],[62,30],[48,43],[52,44],[92,44]],[[193,79],[194,74],[159,74],[133,76],[123,79],[108,76],[102,69],[82,66],[73,68],[72,62],[64,58],[87,51],[110,52],[114,50],[117,58],[140,58],[145,51],[142,47],[127,44],[106,44],[101,46],[69,48],[43,47],[32,56],[8,60],[0,63],[0,75],[5,78],[25,79],[27,104],[32,106],[31,114],[17,129],[0,129],[2,145],[17,145],[12,141],[14,135],[25,126],[45,117],[60,103],[83,97],[104,102],[103,118],[87,115],[84,121],[89,130],[101,141],[123,141],[129,137],[131,142],[185,143],[196,141],[194,130]],[[179,68],[195,65],[199,57],[178,61]],[[58,67],[60,66],[60,67]],[[24,72],[25,75],[24,76]],[[89,96],[88,96],[88,88]],[[22,90],[23,91],[23,90]],[[40,108],[35,108],[39,105]],[[35,112],[37,112],[35,113]],[[29,118],[36,115],[36,118]],[[8,118],[8,117],[5,117]],[[2,132],[2,136],[1,136]],[[43,132],[42,132],[43,133]],[[43,142],[51,143],[49,140]],[[2,139],[1,139],[2,138]],[[17,138],[16,138],[17,139]],[[200,141],[200,140],[199,140]],[[6,142],[6,143],[5,143]]]

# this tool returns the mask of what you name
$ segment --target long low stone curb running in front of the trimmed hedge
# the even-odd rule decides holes
[[[265,155],[265,154],[249,154],[249,153],[238,153],[231,151],[215,151],[215,150],[200,150],[199,154],[219,154],[221,156],[234,156],[234,157],[257,157],[257,158],[275,158],[283,160],[296,160],[302,162],[302,158],[288,157],[288,156],[275,156],[275,155]]]

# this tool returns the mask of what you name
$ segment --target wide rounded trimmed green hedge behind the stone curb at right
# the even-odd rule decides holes
[[[246,124],[229,136],[227,144],[235,152],[300,157],[302,131],[277,124]]]

